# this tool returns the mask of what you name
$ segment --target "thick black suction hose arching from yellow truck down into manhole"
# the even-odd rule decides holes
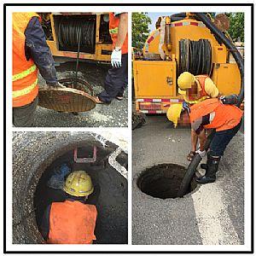
[[[227,47],[227,49],[230,49],[231,54],[233,55],[239,67],[239,71],[241,75],[241,89],[238,95],[238,102],[236,106],[240,107],[241,102],[243,101],[243,98],[244,98],[244,79],[243,79],[244,66],[243,66],[243,60],[240,55],[240,52],[236,49],[236,46],[230,41],[230,39],[225,37],[224,33],[220,32],[218,28],[212,23],[212,21],[207,18],[206,15],[204,15],[203,13],[195,13],[195,16],[198,18],[198,20],[201,20],[214,35],[216,35],[218,38],[221,39],[221,41]],[[206,150],[210,147],[210,144],[212,142],[212,137],[214,136],[214,134],[215,134],[215,130],[212,131],[211,134],[207,137],[207,142],[205,144]],[[199,154],[195,154],[193,160],[191,160],[189,164],[189,167],[187,172],[185,173],[185,176],[183,177],[183,182],[180,185],[180,189],[177,192],[178,197],[182,197],[188,191],[189,184],[191,183],[191,180],[195,174],[196,168],[200,164],[200,162],[201,162],[201,156]]]

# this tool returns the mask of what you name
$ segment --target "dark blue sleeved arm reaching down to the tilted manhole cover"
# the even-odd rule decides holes
[[[26,59],[32,58],[47,84],[57,84],[55,62],[46,43],[44,30],[37,17],[32,17],[29,21],[25,36]]]

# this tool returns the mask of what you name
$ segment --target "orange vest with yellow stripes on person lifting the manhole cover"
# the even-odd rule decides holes
[[[38,96],[38,68],[26,61],[25,30],[36,13],[13,13],[13,107],[31,103]]]

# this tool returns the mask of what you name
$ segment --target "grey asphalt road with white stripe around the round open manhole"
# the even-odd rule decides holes
[[[166,116],[149,116],[132,139],[132,243],[242,245],[244,243],[243,134],[232,139],[220,161],[217,181],[183,198],[158,199],[137,187],[145,169],[162,163],[188,166],[190,130],[172,128]],[[200,171],[200,170],[199,170]]]

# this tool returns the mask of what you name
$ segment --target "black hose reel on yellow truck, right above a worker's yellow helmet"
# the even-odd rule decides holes
[[[188,71],[194,75],[207,74],[212,70],[212,47],[207,39],[179,41],[178,75]]]

